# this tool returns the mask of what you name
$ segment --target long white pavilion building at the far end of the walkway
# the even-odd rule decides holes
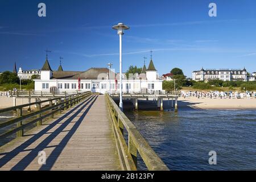
[[[99,71],[100,70],[100,71]],[[91,72],[94,75],[93,79],[87,78]],[[77,73],[76,75],[67,76],[71,74],[65,71],[41,71],[40,79],[35,79],[35,91],[51,92],[76,92],[76,91],[91,91],[96,93],[119,92],[119,74],[112,72],[110,84],[108,78],[108,68],[90,68],[88,71]],[[56,76],[58,75],[58,76]],[[61,76],[60,76],[61,75]],[[123,74],[125,76],[125,74]],[[85,77],[86,76],[86,77]],[[80,90],[79,90],[80,79]],[[138,93],[138,92],[155,92],[162,90],[162,79],[159,78],[156,71],[146,71],[146,75],[135,75],[135,77],[122,81],[123,93]],[[117,83],[117,84],[116,84]]]

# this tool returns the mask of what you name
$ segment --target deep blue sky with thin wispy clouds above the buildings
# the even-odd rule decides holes
[[[47,16],[39,18],[38,4]],[[210,2],[217,17],[208,15]],[[112,62],[119,71],[119,38],[112,26],[123,22],[123,70],[153,60],[159,75],[174,67],[188,77],[204,68],[256,71],[256,1],[24,0],[0,1],[0,72],[40,69],[47,48],[52,69],[84,71]]]

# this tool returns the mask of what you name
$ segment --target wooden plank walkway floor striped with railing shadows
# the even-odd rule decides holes
[[[112,134],[105,96],[90,96],[0,147],[0,171],[120,170]]]

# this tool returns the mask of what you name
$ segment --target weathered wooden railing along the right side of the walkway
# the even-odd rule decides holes
[[[156,155],[147,141],[142,137],[136,127],[119,109],[114,100],[105,94],[115,142],[117,144],[117,153],[123,170],[137,170],[137,152],[141,155],[147,168],[151,171],[169,170],[166,164]],[[128,133],[128,144],[124,138],[124,129]]]

